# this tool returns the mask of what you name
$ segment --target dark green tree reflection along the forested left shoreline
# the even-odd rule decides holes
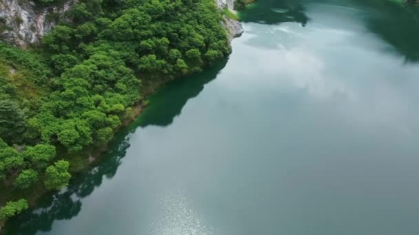
[[[122,164],[127,148],[130,147],[130,135],[136,128],[149,125],[167,126],[181,113],[187,100],[198,96],[208,82],[214,80],[227,59],[187,78],[180,78],[165,85],[150,97],[150,107],[141,116],[119,132],[108,152],[103,155],[97,166],[80,174],[72,180],[70,186],[61,192],[46,195],[38,206],[8,221],[5,234],[36,234],[48,232],[54,221],[72,219],[82,208],[82,199],[88,197],[94,188],[101,186],[103,177],[112,179]]]

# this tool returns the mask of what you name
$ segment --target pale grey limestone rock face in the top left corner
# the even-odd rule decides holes
[[[0,0],[0,38],[21,47],[37,43],[75,1],[38,9],[33,1]]]

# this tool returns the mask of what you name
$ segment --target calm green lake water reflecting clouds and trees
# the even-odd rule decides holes
[[[258,0],[229,60],[177,80],[8,234],[419,234],[419,18]]]

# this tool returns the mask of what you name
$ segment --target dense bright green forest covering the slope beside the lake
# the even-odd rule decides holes
[[[58,20],[29,49],[0,43],[0,220],[67,186],[150,89],[230,53],[214,1],[81,0]]]

